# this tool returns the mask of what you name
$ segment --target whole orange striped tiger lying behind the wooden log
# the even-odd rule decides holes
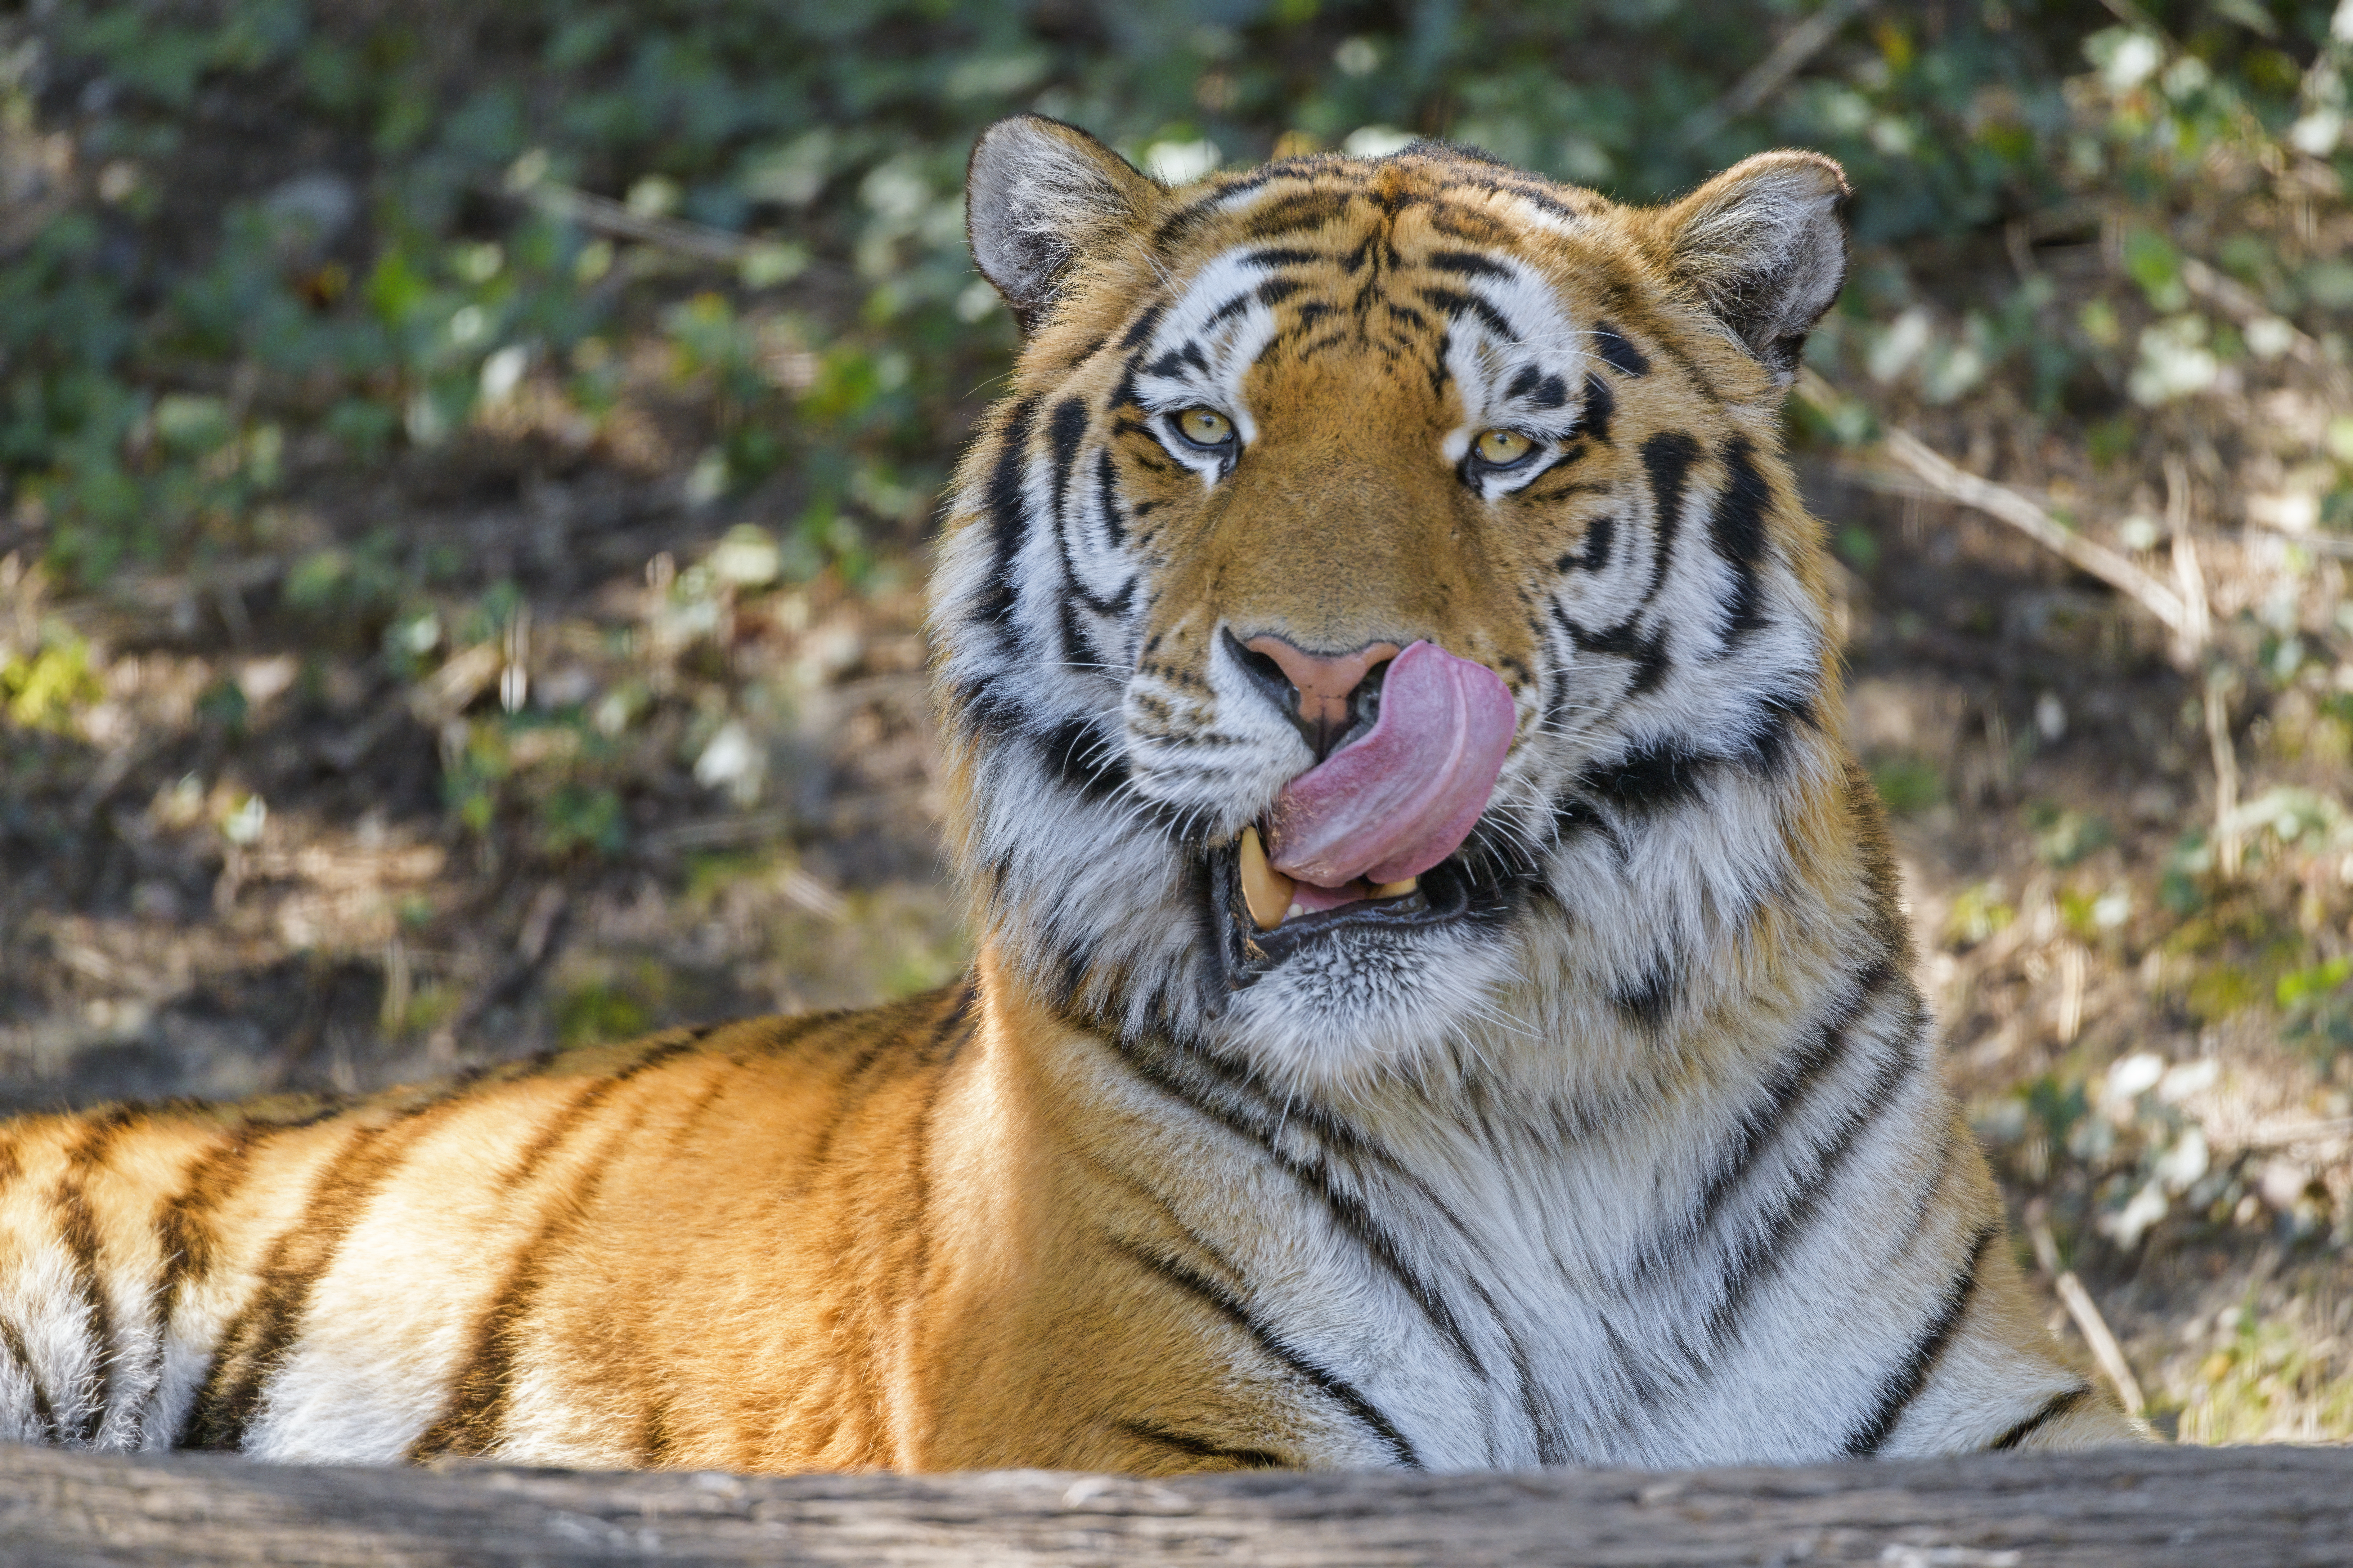
[[[1673,1469],[2146,1427],[2045,1328],[1779,411],[1847,179],[967,169],[969,971],[0,1128],[0,1432],[268,1462]]]

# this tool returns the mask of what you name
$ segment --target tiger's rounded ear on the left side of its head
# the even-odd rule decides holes
[[[1028,331],[1071,263],[1141,223],[1160,195],[1158,181],[1075,125],[998,120],[972,143],[965,169],[972,261]]]

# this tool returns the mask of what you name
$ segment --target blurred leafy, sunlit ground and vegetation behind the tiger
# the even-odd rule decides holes
[[[991,118],[1626,200],[1798,143],[1859,190],[1788,414],[1854,736],[2054,1328],[2184,1439],[2348,1439],[2348,73],[2353,0],[21,5],[0,1091],[953,973]]]

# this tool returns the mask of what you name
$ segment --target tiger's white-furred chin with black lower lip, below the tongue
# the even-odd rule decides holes
[[[1353,1095],[1421,1077],[1464,1044],[1511,985],[1506,889],[1457,853],[1402,893],[1327,910],[1292,905],[1261,929],[1240,846],[1209,851],[1226,1006],[1212,1034],[1301,1095]]]

